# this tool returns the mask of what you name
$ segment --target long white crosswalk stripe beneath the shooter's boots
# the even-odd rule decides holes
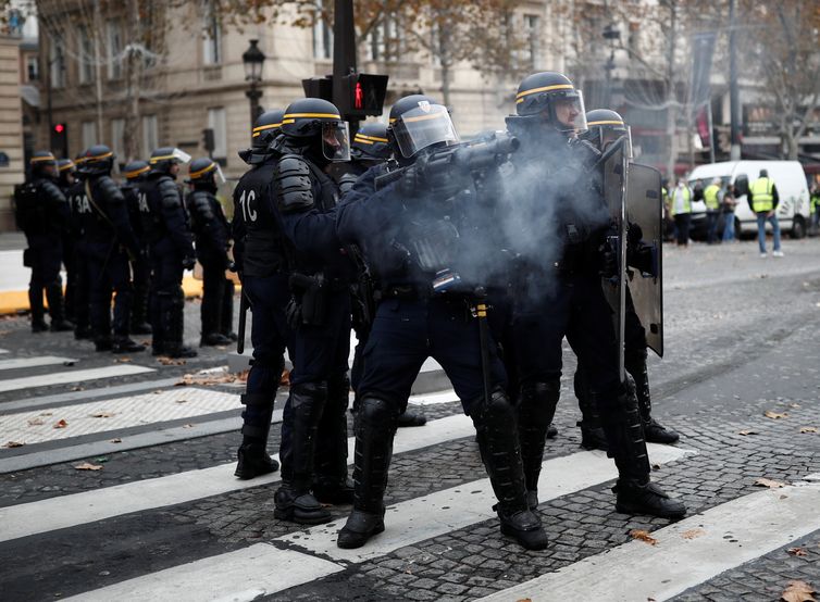
[[[654,463],[673,462],[693,453],[696,452],[650,446]],[[544,488],[544,499],[547,500],[610,480],[616,476],[612,461],[602,452],[580,452],[544,462],[543,480],[538,485],[539,488]],[[465,482],[389,506],[386,516],[387,530],[373,538],[363,549],[336,548],[336,536],[341,525],[334,522],[273,540],[274,544],[289,544],[290,550],[257,543],[244,550],[128,579],[83,593],[76,599],[137,600],[129,597],[138,594],[139,600],[167,600],[177,599],[179,595],[181,600],[254,600],[263,594],[283,591],[338,573],[345,568],[345,561],[360,563],[398,548],[493,518],[495,513],[490,506],[494,502],[489,479]],[[344,564],[320,560],[313,555],[315,553],[326,554],[331,561],[341,561]],[[269,564],[261,564],[262,562]],[[257,566],[260,569],[257,569]],[[294,568],[293,575],[288,574],[290,567]]]

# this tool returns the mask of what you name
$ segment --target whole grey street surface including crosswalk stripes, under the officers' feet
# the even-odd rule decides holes
[[[175,386],[226,364],[227,350],[184,365],[117,361],[4,319],[0,446],[24,444],[0,448],[2,599],[643,602],[820,590],[820,240],[784,251],[664,252],[666,354],[649,372],[655,415],[682,438],[650,459],[654,479],[689,509],[680,523],[614,512],[611,461],[579,448],[566,351],[539,488],[550,544],[535,553],[498,531],[470,421],[447,391],[412,400],[430,422],[397,439],[387,529],[343,552],[348,507],[299,528],[273,517],[277,475],[232,476],[241,382],[210,373]],[[198,310],[188,303],[190,343]]]

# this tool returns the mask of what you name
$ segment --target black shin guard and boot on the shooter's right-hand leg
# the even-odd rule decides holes
[[[532,500],[527,499],[529,488],[524,486],[515,411],[506,393],[495,391],[488,402],[481,399],[473,404],[471,417],[479,437],[481,457],[498,499],[494,509],[501,522],[501,532],[512,537],[526,550],[543,550],[547,547],[547,534],[530,510]],[[543,435],[547,426],[548,421],[541,430]],[[541,449],[544,449],[543,442]],[[537,487],[530,489],[536,490]]]

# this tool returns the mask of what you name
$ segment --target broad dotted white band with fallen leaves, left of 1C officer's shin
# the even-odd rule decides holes
[[[32,444],[240,407],[239,396],[234,393],[176,387],[53,410],[0,414],[0,441]],[[65,426],[58,428],[63,423]]]

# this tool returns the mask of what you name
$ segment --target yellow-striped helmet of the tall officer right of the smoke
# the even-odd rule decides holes
[[[556,130],[581,134],[586,130],[584,97],[569,77],[545,71],[525,77],[515,95],[519,116],[537,116]]]

